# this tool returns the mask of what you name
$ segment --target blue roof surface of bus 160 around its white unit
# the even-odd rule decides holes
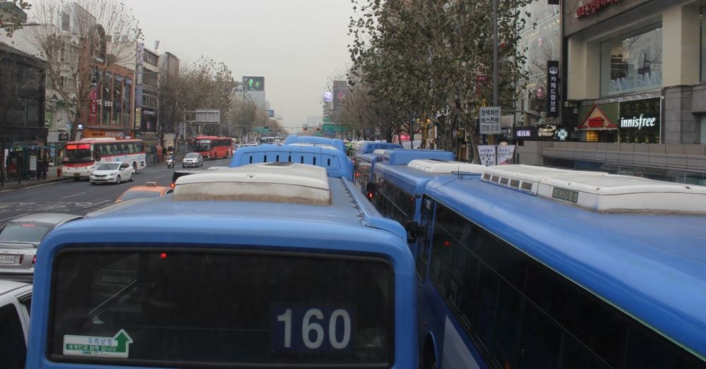
[[[309,167],[309,166],[306,166]],[[225,169],[227,170],[227,169]],[[177,180],[175,193],[179,191],[182,180],[189,179],[195,181],[198,176],[213,176],[221,171],[207,174],[193,174],[184,176]],[[113,229],[124,233],[124,229],[131,229],[129,234],[150,233],[160,234],[162,241],[165,239],[180,240],[177,234],[213,234],[214,240],[222,238],[225,234],[252,234],[262,238],[263,234],[268,237],[287,238],[296,233],[299,237],[311,236],[311,232],[322,229],[332,229],[331,236],[342,229],[357,229],[355,233],[364,229],[383,230],[366,234],[370,238],[367,241],[375,241],[376,238],[390,237],[398,241],[406,240],[406,231],[402,226],[390,219],[382,217],[377,210],[365,200],[359,191],[355,190],[353,184],[346,179],[328,177],[328,187],[330,190],[330,204],[311,205],[287,201],[213,201],[213,200],[178,200],[174,195],[164,195],[161,198],[150,199],[149,201],[138,201],[126,203],[121,207],[107,212],[92,214],[86,218],[90,222],[78,224],[76,228],[66,228],[65,232],[54,232],[53,236],[66,236],[67,234],[78,234],[84,232],[86,237],[94,238],[100,232],[92,232],[92,229]],[[237,206],[234,204],[237,203]],[[237,219],[237,221],[234,221]],[[91,223],[95,222],[95,223]],[[68,225],[68,224],[67,224]],[[329,228],[333,227],[333,228]],[[306,229],[306,230],[305,230]],[[325,232],[326,233],[326,232]],[[388,236],[384,236],[388,234]],[[164,238],[166,235],[167,238]],[[121,236],[121,240],[128,241],[131,236]],[[176,237],[176,238],[174,238]],[[83,236],[80,236],[81,239]],[[100,238],[103,242],[112,238]],[[140,238],[135,238],[139,240]],[[159,237],[155,239],[160,239]],[[194,241],[195,237],[189,237]],[[53,240],[52,240],[53,241]],[[210,238],[202,238],[203,243],[213,243]],[[52,242],[49,242],[49,248]],[[44,244],[42,245],[44,246]],[[335,244],[326,244],[321,248],[335,249]]]

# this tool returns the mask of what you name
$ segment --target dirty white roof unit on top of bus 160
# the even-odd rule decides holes
[[[262,201],[330,205],[326,169],[270,162],[207,171],[177,179],[174,201]]]

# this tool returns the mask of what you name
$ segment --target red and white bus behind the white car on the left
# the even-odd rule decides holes
[[[90,172],[103,162],[126,162],[135,171],[147,164],[142,140],[116,140],[115,138],[83,138],[66,143],[61,176],[78,181],[88,178]]]

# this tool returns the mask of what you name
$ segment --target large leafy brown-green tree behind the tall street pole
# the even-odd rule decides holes
[[[498,4],[500,104],[510,107],[516,80],[524,80],[517,47],[531,0]],[[455,131],[469,133],[477,162],[479,107],[492,104],[492,0],[352,0],[349,44],[352,78],[362,77],[377,102],[389,104],[398,131],[416,132],[417,119],[437,126],[444,147]],[[361,73],[362,72],[362,73]],[[488,82],[486,82],[488,81]]]

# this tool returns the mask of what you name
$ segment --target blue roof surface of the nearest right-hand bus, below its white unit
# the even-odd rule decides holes
[[[706,357],[706,216],[601,214],[463,177],[426,193]]]

